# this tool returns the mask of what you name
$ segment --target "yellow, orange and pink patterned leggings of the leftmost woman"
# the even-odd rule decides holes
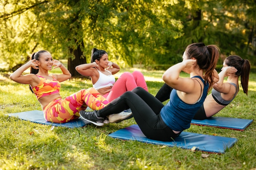
[[[66,123],[80,117],[79,111],[85,110],[87,106],[92,110],[99,110],[108,104],[108,100],[95,88],[88,88],[67,96],[65,99],[54,99],[43,108],[43,111],[46,121]]]

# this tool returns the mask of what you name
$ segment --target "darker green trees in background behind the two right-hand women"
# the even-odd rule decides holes
[[[227,5],[225,1],[184,1],[184,11],[178,16],[182,18],[184,36],[166,42],[169,53],[158,60],[158,64],[174,64],[179,62],[185,47],[194,42],[216,44],[220,47],[221,56],[219,64],[228,55],[240,55],[250,60],[255,65],[255,46],[249,34],[254,26],[248,27],[256,20],[251,16],[250,10],[255,10],[255,5],[249,2],[234,2]],[[182,5],[182,1],[180,1]],[[248,5],[248,6],[247,6]],[[175,6],[177,7],[177,6]],[[213,8],[214,7],[214,8]],[[250,10],[249,10],[250,9]],[[177,9],[181,11],[180,9]],[[247,15],[248,14],[248,15]],[[254,20],[254,22],[252,22]],[[249,41],[252,40],[252,41]]]

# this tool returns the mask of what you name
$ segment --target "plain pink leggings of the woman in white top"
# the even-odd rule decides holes
[[[117,79],[111,91],[103,96],[106,97],[109,102],[111,102],[124,94],[126,91],[132,91],[136,87],[142,87],[148,91],[148,86],[144,79],[144,75],[140,71],[134,71],[132,73],[124,72]]]

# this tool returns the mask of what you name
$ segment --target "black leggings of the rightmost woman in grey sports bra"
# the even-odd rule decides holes
[[[160,102],[164,102],[164,101],[170,99],[170,94],[171,94],[172,90],[173,90],[173,88],[171,88],[167,84],[164,84],[160,88],[160,90],[157,92],[157,95],[155,95],[155,97]],[[206,117],[206,114],[205,114],[205,111],[204,111],[204,105],[202,105],[200,107],[200,109],[197,111],[197,113],[195,113],[195,116],[193,117],[193,119],[196,119],[196,120],[204,120],[204,119],[208,119],[208,118],[209,117]]]

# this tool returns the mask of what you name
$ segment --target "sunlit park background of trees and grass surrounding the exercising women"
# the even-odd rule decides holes
[[[244,132],[191,126],[189,132],[238,138],[225,154],[202,157],[199,151],[107,136],[136,124],[134,119],[68,129],[6,116],[41,109],[28,86],[9,79],[38,50],[48,50],[72,73],[62,84],[63,97],[92,86],[74,69],[90,62],[92,48],[106,50],[120,73],[144,73],[155,95],[162,73],[182,61],[186,46],[204,42],[220,47],[218,71],[228,55],[250,61],[248,96],[240,88],[219,115],[255,119],[255,0],[2,0],[0,21],[0,170],[256,169],[255,122]]]

